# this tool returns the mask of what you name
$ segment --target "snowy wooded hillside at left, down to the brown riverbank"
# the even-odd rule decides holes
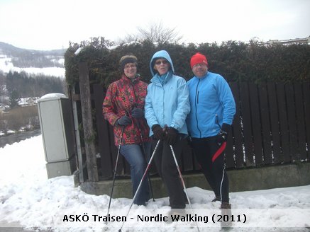
[[[39,127],[36,100],[66,91],[64,54],[0,42],[0,136]]]

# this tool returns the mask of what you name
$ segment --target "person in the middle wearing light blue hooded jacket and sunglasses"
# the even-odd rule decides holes
[[[189,91],[185,79],[175,75],[175,68],[168,52],[156,52],[150,60],[153,78],[145,98],[145,119],[151,128],[153,145],[160,144],[154,155],[155,166],[165,183],[170,207],[185,208],[185,195],[177,174],[177,166],[170,150],[172,145],[177,160],[187,137],[185,120],[190,111]]]

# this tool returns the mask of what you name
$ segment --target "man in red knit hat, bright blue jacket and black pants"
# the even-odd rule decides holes
[[[187,82],[191,105],[187,127],[192,146],[214,191],[214,202],[221,201],[221,209],[230,209],[223,150],[231,131],[236,104],[223,76],[208,71],[208,62],[203,54],[192,56],[191,68],[195,76]]]

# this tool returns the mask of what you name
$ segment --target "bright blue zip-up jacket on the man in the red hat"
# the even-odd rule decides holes
[[[236,104],[223,76],[208,71],[201,79],[194,76],[187,86],[191,104],[187,127],[191,137],[212,137],[218,134],[223,123],[233,123]]]

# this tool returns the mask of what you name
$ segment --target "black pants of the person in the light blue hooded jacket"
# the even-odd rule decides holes
[[[153,148],[155,148],[157,141],[158,140],[153,140]],[[178,163],[181,157],[183,141],[184,139],[177,139],[176,144],[173,146]],[[168,192],[170,207],[172,209],[184,209],[185,199],[183,187],[181,180],[179,179],[172,151],[169,144],[165,141],[160,141],[160,144],[158,144],[154,155],[154,161],[158,174],[160,175],[160,178],[162,178]]]

